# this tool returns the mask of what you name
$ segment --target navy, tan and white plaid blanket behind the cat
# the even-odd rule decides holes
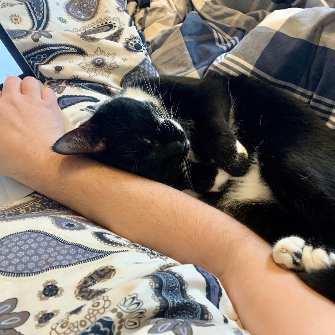
[[[309,103],[335,129],[335,0],[177,2],[129,5],[159,74],[246,73]]]

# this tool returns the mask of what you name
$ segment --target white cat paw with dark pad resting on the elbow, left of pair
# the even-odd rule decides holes
[[[303,269],[302,254],[305,241],[296,236],[290,236],[279,240],[273,247],[272,258],[280,266],[286,269]]]

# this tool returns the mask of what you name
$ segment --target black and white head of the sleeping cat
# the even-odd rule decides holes
[[[185,130],[159,100],[131,87],[102,103],[89,120],[53,145],[57,153],[86,154],[162,182],[166,173],[180,170],[189,149]]]

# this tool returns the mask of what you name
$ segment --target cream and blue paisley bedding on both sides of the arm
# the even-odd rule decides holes
[[[1,1],[0,21],[75,126],[131,77],[157,75],[123,2]],[[212,274],[45,196],[0,222],[0,334],[247,334]]]

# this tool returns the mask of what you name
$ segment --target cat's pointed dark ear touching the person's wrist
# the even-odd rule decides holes
[[[62,155],[98,153],[105,149],[105,143],[88,120],[58,139],[52,149]]]

